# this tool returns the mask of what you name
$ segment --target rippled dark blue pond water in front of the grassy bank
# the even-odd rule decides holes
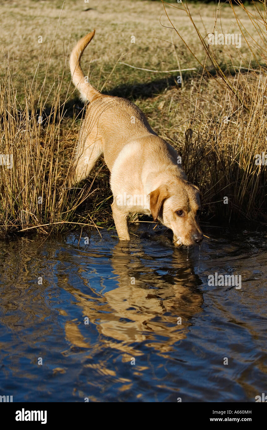
[[[1,241],[0,395],[255,402],[267,393],[266,233],[207,227],[213,239],[187,250],[150,226],[132,227],[130,243],[106,230]],[[215,273],[241,275],[241,289],[209,285]]]

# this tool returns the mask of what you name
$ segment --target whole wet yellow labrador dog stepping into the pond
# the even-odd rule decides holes
[[[177,164],[175,149],[147,123],[130,101],[98,92],[83,74],[80,59],[95,31],[71,52],[72,81],[83,101],[89,102],[83,121],[69,185],[85,179],[104,154],[110,170],[112,213],[120,240],[129,240],[128,215],[153,216],[173,231],[175,246],[203,240],[199,227],[199,189],[187,181]]]

